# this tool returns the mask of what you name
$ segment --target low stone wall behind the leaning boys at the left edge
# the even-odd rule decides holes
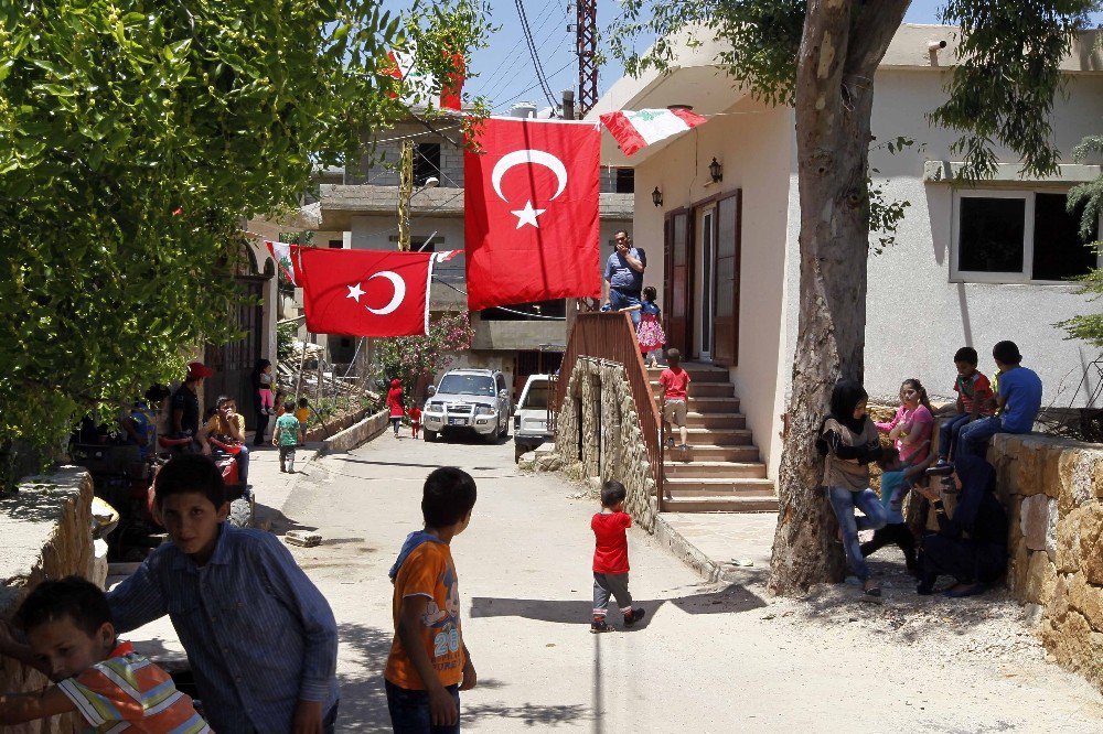
[[[0,617],[10,619],[41,581],[87,576],[92,564],[92,478],[83,468],[30,477],[0,498]],[[34,691],[49,682],[36,670],[0,658],[0,690]],[[83,723],[69,714],[4,731],[78,732]]]

